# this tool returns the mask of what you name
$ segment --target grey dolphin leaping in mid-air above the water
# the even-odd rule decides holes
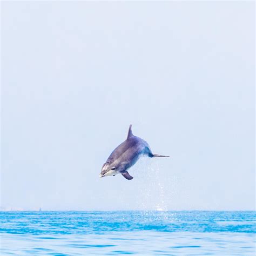
[[[121,173],[125,179],[133,179],[127,170],[132,167],[141,156],[148,157],[169,157],[161,154],[153,154],[149,144],[145,140],[132,134],[132,125],[129,127],[126,140],[120,144],[107,158],[102,166],[99,177],[115,176]]]

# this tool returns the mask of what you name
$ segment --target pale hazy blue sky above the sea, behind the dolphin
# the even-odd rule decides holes
[[[1,7],[2,209],[255,209],[253,2]]]

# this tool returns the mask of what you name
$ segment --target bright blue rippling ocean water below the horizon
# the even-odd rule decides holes
[[[0,255],[255,255],[256,212],[0,212]]]

